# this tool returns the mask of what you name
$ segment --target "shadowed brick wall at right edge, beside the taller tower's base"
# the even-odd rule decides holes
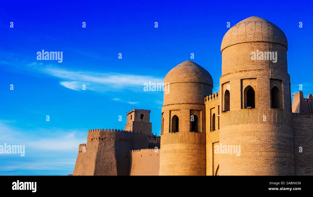
[[[313,175],[313,115],[292,113],[296,175]],[[299,152],[302,147],[302,152]]]

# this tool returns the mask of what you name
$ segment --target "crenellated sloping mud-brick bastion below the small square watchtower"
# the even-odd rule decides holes
[[[117,129],[88,131],[85,152],[79,153],[73,175],[128,175],[129,151],[148,148],[148,135]]]

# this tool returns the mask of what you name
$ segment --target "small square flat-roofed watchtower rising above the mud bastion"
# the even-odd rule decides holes
[[[151,135],[152,123],[150,123],[150,110],[133,109],[127,113],[126,131],[141,132],[145,131]]]

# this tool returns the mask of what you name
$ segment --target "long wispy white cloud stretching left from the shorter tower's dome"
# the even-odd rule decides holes
[[[39,72],[59,78],[60,85],[77,91],[82,91],[82,85],[85,84],[86,90],[99,93],[117,92],[124,89],[138,92],[143,91],[144,83],[163,82],[163,78],[149,75],[69,70],[52,65],[39,67],[36,63],[29,64],[29,66]]]

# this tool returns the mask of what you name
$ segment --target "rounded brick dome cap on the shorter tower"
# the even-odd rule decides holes
[[[181,82],[197,82],[208,84],[213,87],[211,74],[202,66],[190,60],[184,61],[172,68],[164,78],[164,84]]]

